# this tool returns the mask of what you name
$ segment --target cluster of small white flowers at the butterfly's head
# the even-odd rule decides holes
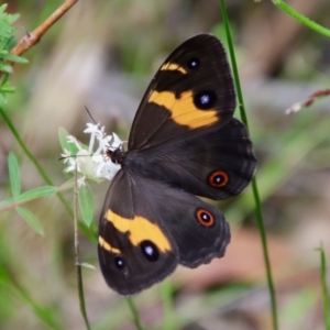
[[[81,174],[78,185],[85,185],[85,179],[100,180],[106,178],[111,180],[116,173],[120,169],[119,164],[113,164],[107,156],[107,151],[116,150],[122,145],[122,141],[116,133],[105,136],[105,127],[100,128],[94,123],[87,123],[87,129],[84,133],[90,134],[88,148],[73,135],[67,136],[68,143],[74,143],[78,152],[73,155],[68,150],[64,150],[62,157],[64,163],[67,164],[65,172],[74,172],[77,167],[77,172]],[[94,151],[96,141],[98,147]]]

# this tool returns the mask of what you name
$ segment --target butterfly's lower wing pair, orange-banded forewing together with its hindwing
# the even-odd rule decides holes
[[[178,263],[196,267],[222,256],[229,241],[229,226],[216,207],[122,169],[101,215],[99,261],[108,285],[131,295],[162,280]]]

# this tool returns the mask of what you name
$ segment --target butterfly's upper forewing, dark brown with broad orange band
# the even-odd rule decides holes
[[[235,92],[223,45],[210,34],[178,46],[148,86],[132,124],[129,150],[224,125]]]

